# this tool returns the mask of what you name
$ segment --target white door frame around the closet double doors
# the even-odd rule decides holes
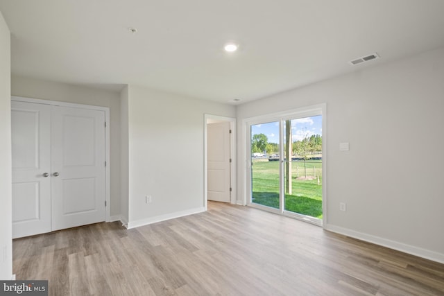
[[[25,102],[25,103],[35,103],[42,105],[53,105],[60,107],[72,107],[78,109],[87,109],[87,110],[99,110],[105,112],[105,201],[106,201],[106,209],[105,209],[105,222],[110,222],[110,213],[111,213],[111,192],[110,192],[110,108],[109,107],[101,107],[101,106],[93,106],[93,105],[83,105],[77,103],[67,103],[60,101],[50,101],[50,100],[42,100],[40,98],[26,98],[23,96],[11,96],[11,101],[17,102]]]

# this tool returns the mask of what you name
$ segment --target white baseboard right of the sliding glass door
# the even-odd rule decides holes
[[[362,232],[356,232],[352,229],[347,229],[335,225],[324,225],[324,229],[330,232],[335,232],[337,234],[343,234],[345,236],[350,236],[352,238],[357,238],[361,241],[367,241],[368,243],[374,243],[376,245],[382,245],[383,247],[388,247],[393,250],[398,250],[407,254],[419,256],[425,259],[436,261],[439,263],[444,263],[444,254],[422,249],[421,247],[415,247],[413,245],[407,245],[404,243],[399,243],[397,241],[391,241],[386,238],[381,238],[379,236],[373,236],[370,234],[364,234]]]

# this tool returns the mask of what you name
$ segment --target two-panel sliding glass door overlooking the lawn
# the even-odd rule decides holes
[[[321,112],[249,124],[250,205],[322,224]]]

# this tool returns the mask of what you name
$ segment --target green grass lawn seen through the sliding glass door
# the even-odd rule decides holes
[[[279,162],[253,160],[253,202],[279,209]],[[292,162],[292,192],[285,194],[285,209],[298,214],[322,218],[322,161],[307,162],[304,180],[304,162]],[[319,184],[317,176],[319,176]]]

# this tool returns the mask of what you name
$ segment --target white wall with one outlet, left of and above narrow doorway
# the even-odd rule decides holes
[[[234,117],[235,107],[133,85],[128,94],[128,226],[203,211],[204,114]]]

